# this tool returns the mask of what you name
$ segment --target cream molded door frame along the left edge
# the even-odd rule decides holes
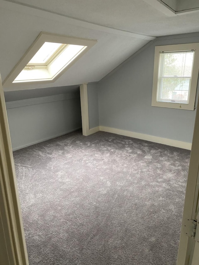
[[[28,265],[12,145],[0,76],[0,263]]]

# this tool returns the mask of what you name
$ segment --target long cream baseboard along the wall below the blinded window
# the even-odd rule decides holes
[[[146,140],[146,141],[150,141],[150,142],[155,142],[158,144],[166,144],[166,145],[179,147],[179,148],[183,148],[183,149],[187,149],[187,150],[191,150],[191,148],[192,148],[191,143],[167,139],[167,138],[162,138],[162,137],[157,137],[157,136],[153,136],[153,135],[147,135],[147,134],[143,134],[143,133],[136,133],[136,132],[120,130],[120,129],[110,128],[110,127],[105,127],[105,126],[99,126],[99,130],[104,131],[104,132],[110,132],[110,133],[114,133],[114,134],[129,136],[129,137],[133,137],[133,138],[137,138],[137,139],[141,139],[141,140]]]

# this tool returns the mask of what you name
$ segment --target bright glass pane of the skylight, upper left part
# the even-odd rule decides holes
[[[29,63],[45,63],[57,51],[62,43],[45,42],[39,51],[35,53]]]

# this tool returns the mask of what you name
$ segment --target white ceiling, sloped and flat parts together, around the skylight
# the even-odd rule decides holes
[[[0,25],[2,80],[40,31],[97,40],[54,83],[4,88],[17,90],[99,81],[152,39],[150,36],[199,31],[199,13],[168,17],[142,0],[0,0]]]

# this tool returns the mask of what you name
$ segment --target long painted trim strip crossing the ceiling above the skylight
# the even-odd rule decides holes
[[[137,38],[137,39],[145,39],[145,40],[156,39],[156,37],[154,36],[147,36],[147,35],[142,35],[142,34],[130,32],[130,31],[119,30],[119,29],[114,29],[114,28],[107,27],[107,26],[97,25],[94,23],[67,17],[65,15],[52,12],[46,9],[37,8],[37,7],[24,4],[24,3],[19,3],[13,0],[1,0],[1,8],[9,9],[12,11],[23,12],[25,14],[30,14],[32,16],[44,17],[46,19],[52,19],[56,21],[61,20],[68,24],[72,24],[72,25],[76,25],[76,26],[80,26],[80,27],[84,27],[84,28],[92,29],[92,30],[99,30],[99,31],[107,32],[107,33],[120,35],[120,36],[126,36],[126,37]],[[35,13],[35,10],[37,10],[36,13]]]

